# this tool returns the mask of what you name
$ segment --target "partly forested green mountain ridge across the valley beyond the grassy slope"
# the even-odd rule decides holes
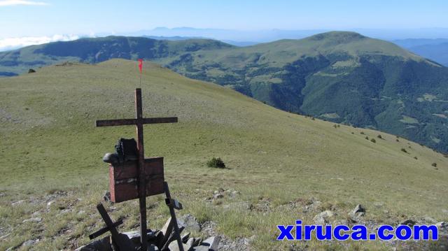
[[[85,39],[13,53],[37,64],[143,57],[282,110],[376,128],[448,152],[448,69],[387,41],[350,31],[244,48],[202,39]],[[84,41],[94,46],[85,46]],[[73,50],[67,49],[69,45]],[[18,60],[5,58],[0,53],[0,71],[7,72],[11,67],[5,64]],[[21,66],[22,71],[29,68],[28,64]]]

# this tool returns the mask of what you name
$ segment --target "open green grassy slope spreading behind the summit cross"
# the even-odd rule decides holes
[[[94,120],[134,115],[136,67],[114,59],[94,66],[50,66],[0,80],[0,236],[11,233],[0,250],[30,238],[40,238],[42,250],[75,248],[102,225],[94,210],[108,189],[101,157],[121,136],[133,137],[134,128],[99,129]],[[362,203],[375,221],[448,220],[448,159],[428,148],[404,139],[396,142],[384,133],[384,140],[372,143],[360,132],[376,138],[378,131],[334,128],[154,64],[146,64],[142,82],[147,117],[179,116],[179,124],[146,126],[145,149],[147,155],[165,157],[166,179],[185,204],[182,213],[193,213],[202,222],[214,220],[218,232],[232,238],[255,234],[255,249],[291,244],[273,241],[276,224],[292,224],[297,218],[312,222],[314,214],[278,207],[297,199],[324,201],[342,218]],[[214,156],[229,168],[207,168],[205,162]],[[218,187],[241,191],[235,200],[225,198],[224,205],[263,200],[271,211],[226,210],[206,203],[204,198]],[[20,199],[25,202],[11,206]],[[149,225],[160,228],[166,206],[159,197],[148,205]],[[137,228],[137,208],[130,201],[109,210],[114,219],[125,217],[123,229],[131,229]],[[22,224],[33,213],[43,222]]]

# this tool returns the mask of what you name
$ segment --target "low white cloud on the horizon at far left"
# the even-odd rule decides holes
[[[54,35],[54,36],[25,36],[21,38],[0,38],[0,51],[15,50],[28,45],[40,45],[55,41],[71,41],[78,39],[78,35]]]

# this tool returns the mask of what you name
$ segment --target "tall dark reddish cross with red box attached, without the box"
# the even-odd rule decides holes
[[[140,241],[141,250],[146,250],[148,242],[146,240],[146,178],[144,171],[144,141],[143,141],[143,125],[144,124],[160,124],[160,123],[176,123],[177,117],[150,117],[142,116],[141,106],[141,89],[135,89],[135,109],[136,117],[134,119],[124,120],[97,120],[97,127],[113,127],[121,125],[135,125],[137,129],[137,148],[139,149],[139,205],[140,205]]]

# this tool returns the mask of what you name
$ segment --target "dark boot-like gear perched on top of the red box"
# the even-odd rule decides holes
[[[112,165],[123,164],[131,160],[139,159],[139,150],[134,138],[120,138],[115,146],[116,152],[108,152],[103,157],[103,161]]]

